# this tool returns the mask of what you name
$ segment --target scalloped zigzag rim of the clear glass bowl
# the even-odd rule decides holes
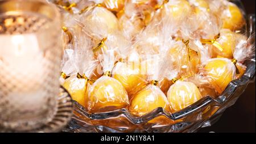
[[[231,2],[236,3],[236,5],[238,7],[240,7],[240,9],[245,11],[241,1],[231,0]],[[254,21],[254,26],[251,26],[250,24],[246,23],[247,24],[246,29],[250,29],[250,31],[246,31],[246,35],[249,36],[252,34],[252,32],[255,32],[255,15],[246,15],[245,12],[243,12],[243,15],[245,15],[245,18],[247,20],[248,20],[248,18],[252,17],[253,21]],[[251,22],[249,22],[249,23],[251,23]],[[251,60],[245,61],[245,65],[247,66],[245,74],[243,74],[240,79],[236,79],[236,80],[230,82],[229,85],[226,87],[225,91],[220,96],[218,96],[218,98],[214,99],[211,96],[205,96],[204,98],[200,99],[196,103],[194,103],[194,104],[190,105],[189,107],[184,108],[181,111],[176,112],[176,113],[170,113],[160,107],[154,109],[150,113],[147,113],[146,115],[141,116],[141,117],[132,115],[126,108],[117,109],[114,111],[104,112],[104,113],[89,113],[89,112],[86,112],[85,108],[82,107],[82,105],[77,103],[77,101],[73,100],[74,111],[79,113],[81,116],[90,118],[90,120],[104,120],[106,118],[113,118],[113,117],[125,115],[133,124],[143,124],[143,123],[148,122],[158,116],[166,116],[174,121],[180,120],[181,118],[190,116],[193,113],[203,111],[209,105],[221,107],[221,106],[225,105],[226,103],[228,103],[228,101],[230,99],[232,99],[233,95],[236,94],[236,92],[240,92],[240,94],[238,94],[238,95],[241,95],[242,92],[245,90],[245,88],[243,88],[243,91],[238,91],[239,87],[246,87],[247,84],[250,81],[252,81],[255,77],[255,56]],[[218,109],[218,111],[220,111],[220,109]],[[215,112],[215,114],[218,113],[218,111]]]

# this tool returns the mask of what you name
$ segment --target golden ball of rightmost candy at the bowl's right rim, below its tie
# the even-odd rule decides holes
[[[224,58],[212,59],[204,66],[207,77],[210,78],[210,83],[218,94],[221,94],[226,86],[233,81],[235,72],[233,66],[231,60]]]

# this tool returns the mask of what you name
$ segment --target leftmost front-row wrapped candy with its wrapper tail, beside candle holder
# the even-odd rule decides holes
[[[80,46],[81,47],[75,47],[74,50],[65,50],[65,52],[72,52],[73,61],[71,62],[69,60],[65,62],[61,76],[69,76],[69,71],[71,71],[73,67],[73,75],[70,75],[68,78],[67,76],[63,77],[65,81],[62,85],[69,92],[73,100],[76,100],[86,108],[88,103],[88,88],[91,82],[89,78],[96,67],[96,61],[93,61],[92,57],[84,57],[85,54],[91,53],[89,41],[84,40],[83,45]]]

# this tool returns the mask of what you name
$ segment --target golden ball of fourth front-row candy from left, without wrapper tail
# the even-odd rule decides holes
[[[201,99],[201,94],[192,82],[177,81],[167,92],[171,112],[175,113]]]

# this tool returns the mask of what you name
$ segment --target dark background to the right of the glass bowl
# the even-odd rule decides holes
[[[255,0],[241,0],[247,14],[255,14]],[[214,125],[199,132],[254,132],[255,133],[255,82],[250,83],[236,104],[226,109]]]

